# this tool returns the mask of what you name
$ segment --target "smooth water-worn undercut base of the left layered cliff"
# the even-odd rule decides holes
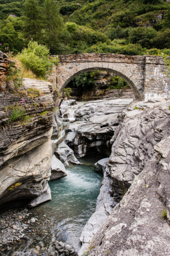
[[[28,153],[11,160],[1,170],[0,194],[3,193],[3,197],[0,199],[0,204],[11,201],[11,198],[14,200],[26,197],[32,198],[29,206],[33,207],[51,199],[47,183],[51,176],[51,155],[49,139]],[[18,183],[17,189],[8,191],[7,189],[15,183]]]

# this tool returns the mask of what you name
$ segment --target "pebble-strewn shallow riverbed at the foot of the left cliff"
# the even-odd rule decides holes
[[[60,219],[60,216],[58,216]],[[77,255],[71,244],[52,233],[51,213],[36,209],[11,209],[0,216],[0,255]]]

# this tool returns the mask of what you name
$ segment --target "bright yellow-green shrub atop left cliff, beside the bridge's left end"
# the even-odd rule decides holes
[[[30,69],[37,77],[45,78],[52,69],[49,50],[37,42],[30,41],[28,48],[24,48],[18,58],[26,69]]]

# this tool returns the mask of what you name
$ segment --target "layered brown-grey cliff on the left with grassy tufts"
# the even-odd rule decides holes
[[[25,78],[18,88],[10,66],[0,52],[0,204],[35,206],[51,199],[52,85]]]

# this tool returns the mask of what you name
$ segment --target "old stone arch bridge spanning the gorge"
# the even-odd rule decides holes
[[[170,96],[170,78],[161,57],[119,54],[59,55],[59,65],[51,79],[57,90],[63,88],[80,73],[91,70],[107,70],[122,77],[132,88],[135,100],[148,100]]]

